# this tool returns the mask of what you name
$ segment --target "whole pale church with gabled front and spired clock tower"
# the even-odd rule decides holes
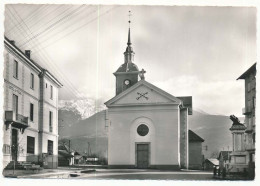
[[[192,97],[175,97],[146,81],[134,54],[129,27],[124,63],[114,73],[116,95],[105,103],[108,167],[187,169]]]

